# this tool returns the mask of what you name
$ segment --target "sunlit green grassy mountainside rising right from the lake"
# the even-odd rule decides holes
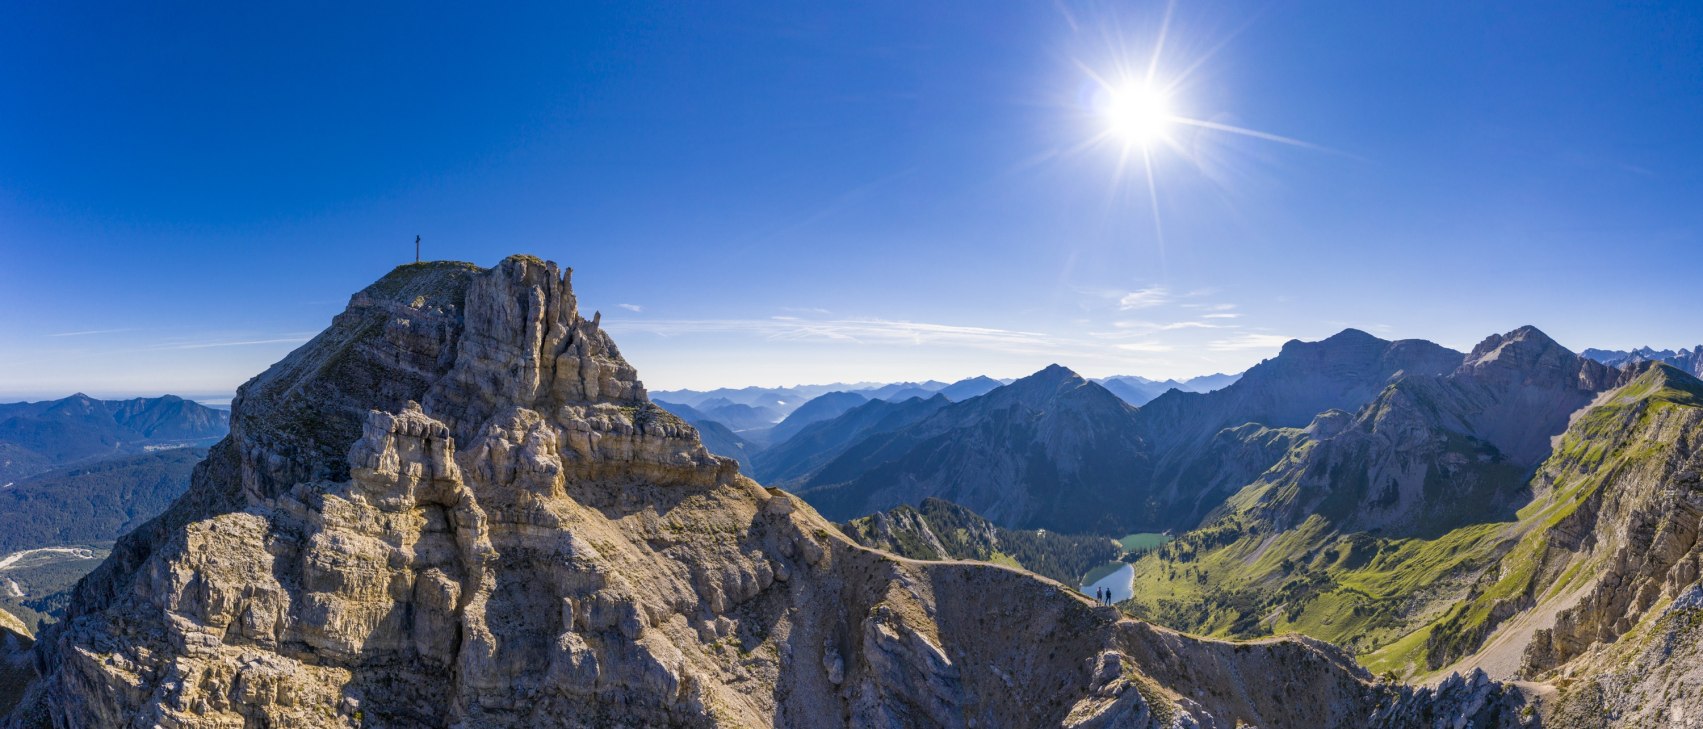
[[[1376,468],[1357,462],[1361,453],[1322,451],[1340,451],[1340,443],[1303,441],[1202,528],[1138,560],[1136,600],[1126,608],[1207,635],[1325,639],[1378,673],[1439,669],[1477,651],[1502,620],[1589,574],[1570,543],[1555,542],[1575,538],[1563,537],[1577,531],[1568,519],[1604,485],[1671,456],[1672,439],[1655,424],[1674,407],[1703,407],[1703,383],[1662,368],[1643,373],[1577,417],[1528,484],[1536,496],[1522,508],[1504,518],[1495,504],[1454,499],[1448,513],[1415,511],[1444,521],[1492,516],[1434,535],[1359,528],[1378,499],[1366,475]],[[1425,491],[1437,480],[1444,492],[1473,480],[1480,487],[1466,494],[1483,496],[1500,489],[1483,484],[1509,480],[1505,465],[1480,460],[1471,443],[1448,434],[1429,443],[1439,446]]]

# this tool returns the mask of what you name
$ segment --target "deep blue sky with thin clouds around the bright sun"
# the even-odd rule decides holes
[[[1698,3],[240,5],[9,9],[0,397],[228,393],[414,235],[572,266],[652,388],[1703,342]],[[1095,77],[1161,27],[1306,145],[1150,187]]]

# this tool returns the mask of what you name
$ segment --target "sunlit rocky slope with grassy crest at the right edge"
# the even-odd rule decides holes
[[[1654,363],[1620,376],[1538,468],[1500,569],[1431,634],[1468,646],[1458,668],[1551,683],[1551,726],[1703,715],[1688,647],[1703,617],[1703,382]]]

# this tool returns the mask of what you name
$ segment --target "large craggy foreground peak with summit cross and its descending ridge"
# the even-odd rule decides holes
[[[652,405],[565,271],[404,266],[242,387],[232,431],[34,649],[22,727],[1519,726],[988,564],[846,540]]]

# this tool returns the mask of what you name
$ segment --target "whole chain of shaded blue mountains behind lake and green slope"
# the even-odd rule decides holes
[[[768,445],[746,438],[727,453],[748,463],[761,482],[792,489],[838,519],[940,497],[1012,528],[1187,530],[1291,448],[1335,434],[1362,407],[1385,402],[1379,412],[1386,419],[1413,412],[1448,421],[1415,426],[1425,433],[1470,431],[1470,443],[1482,445],[1477,451],[1456,448],[1427,458],[1468,458],[1482,470],[1477,487],[1495,491],[1494,484],[1517,480],[1522,468],[1534,467],[1567,416],[1596,392],[1555,382],[1604,383],[1614,370],[1567,353],[1531,327],[1492,337],[1482,347],[1487,351],[1477,364],[1458,371],[1468,364],[1463,353],[1349,329],[1320,342],[1293,341],[1243,375],[1189,382],[1090,382],[1051,366],[964,400],[945,393],[960,385],[960,393],[974,392],[971,380],[940,388],[933,399],[904,402],[879,395],[899,397],[940,383],[833,392],[807,400],[797,417],[770,429]],[[1655,358],[1676,354],[1637,351],[1620,361]],[[974,383],[981,388],[996,382]],[[1138,400],[1141,405],[1132,407]],[[1473,489],[1459,479],[1454,487]],[[1497,499],[1485,501],[1458,492],[1453,501],[1420,501],[1362,518],[1378,521],[1378,528],[1434,533],[1471,518],[1442,511],[1461,504],[1507,509],[1517,496],[1497,492]],[[1405,513],[1410,506],[1424,514]]]

